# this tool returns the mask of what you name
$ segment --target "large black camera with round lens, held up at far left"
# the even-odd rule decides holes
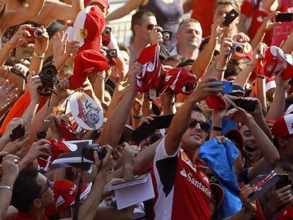
[[[47,89],[54,89],[56,88],[56,85],[59,83],[56,67],[54,65],[43,67],[39,76],[43,86],[43,88],[39,89],[40,95],[51,95],[52,91],[47,91]]]

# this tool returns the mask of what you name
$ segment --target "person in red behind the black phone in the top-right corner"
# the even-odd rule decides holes
[[[293,13],[293,2],[291,0],[263,0],[263,8],[269,12]],[[292,22],[282,22],[276,25],[272,30],[272,45],[282,47],[292,30]]]

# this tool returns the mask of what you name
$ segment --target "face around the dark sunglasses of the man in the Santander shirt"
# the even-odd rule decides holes
[[[193,111],[190,120],[195,119],[198,122],[207,122],[205,115],[200,112]],[[201,129],[200,124],[197,123],[195,127],[188,127],[181,138],[181,146],[183,149],[194,152],[205,142],[205,132]]]

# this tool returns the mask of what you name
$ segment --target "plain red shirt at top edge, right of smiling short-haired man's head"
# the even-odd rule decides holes
[[[211,35],[214,2],[215,0],[193,1],[193,14],[191,15],[191,18],[200,22],[200,25],[202,26],[202,37]]]

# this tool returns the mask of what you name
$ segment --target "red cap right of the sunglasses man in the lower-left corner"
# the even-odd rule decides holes
[[[92,183],[81,186],[80,199],[84,199],[91,192]],[[56,180],[53,185],[54,209],[62,212],[74,204],[78,186],[69,180]]]

